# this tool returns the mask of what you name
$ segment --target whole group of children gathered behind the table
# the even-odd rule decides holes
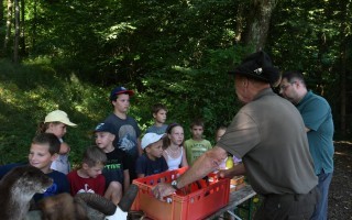
[[[180,124],[165,124],[167,108],[163,105],[153,106],[154,124],[140,141],[141,131],[136,121],[127,116],[133,94],[124,87],[111,91],[113,113],[95,128],[96,144],[85,150],[78,169],[70,170],[70,147],[63,141],[66,127],[77,124],[62,110],[45,117],[32,140],[29,163],[53,178],[54,184],[43,195],[35,195],[36,201],[61,193],[73,196],[94,193],[118,205],[134,178],[191,165],[212,147],[202,138],[205,125],[200,120],[191,123],[193,138],[187,141]],[[220,128],[217,136],[224,130]],[[23,164],[0,166],[0,179],[20,165]]]

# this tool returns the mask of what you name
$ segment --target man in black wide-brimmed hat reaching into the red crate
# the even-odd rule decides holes
[[[246,174],[253,189],[264,197],[255,219],[309,219],[318,199],[305,124],[297,109],[277,96],[271,84],[278,70],[270,56],[256,52],[230,74],[244,103],[216,146],[172,184],[153,190],[162,199],[215,170],[231,153],[242,164],[219,172],[221,177]]]

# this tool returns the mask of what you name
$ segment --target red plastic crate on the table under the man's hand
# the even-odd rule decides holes
[[[218,179],[213,174],[208,175],[212,179],[208,185],[202,182],[200,189],[195,184],[184,187],[166,197],[168,202],[157,200],[153,196],[152,189],[157,183],[170,183],[186,169],[134,179],[133,184],[139,186],[139,194],[131,209],[142,210],[146,217],[154,220],[197,220],[210,216],[229,202],[230,179]],[[185,189],[188,193],[185,194]]]

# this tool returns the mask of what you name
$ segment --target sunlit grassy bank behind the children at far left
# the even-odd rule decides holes
[[[45,61],[13,65],[0,61],[0,164],[26,161],[37,124],[47,112],[64,110],[78,128],[68,128],[65,141],[70,158],[79,161],[92,144],[91,131],[111,112],[110,88],[80,81],[75,74],[56,73]]]

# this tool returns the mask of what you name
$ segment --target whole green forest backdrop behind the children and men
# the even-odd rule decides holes
[[[219,125],[241,105],[227,72],[255,51],[305,72],[331,105],[337,140],[351,140],[351,0],[3,0],[0,4],[0,164],[25,161],[37,124],[61,109],[78,124],[65,141],[79,162],[116,86],[135,91],[142,131],[151,106],[167,122]],[[285,119],[283,119],[285,123]]]

